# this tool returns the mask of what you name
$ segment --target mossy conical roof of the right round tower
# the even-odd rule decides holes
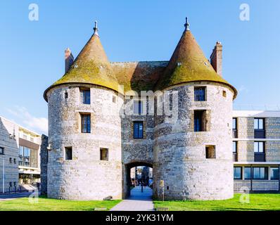
[[[196,39],[189,30],[189,23],[186,21],[179,43],[170,59],[170,62],[155,86],[155,90],[163,90],[169,86],[186,82],[210,81],[227,84],[234,91],[234,98],[237,91],[225,79],[217,74],[212,68],[203,51],[198,46]]]

